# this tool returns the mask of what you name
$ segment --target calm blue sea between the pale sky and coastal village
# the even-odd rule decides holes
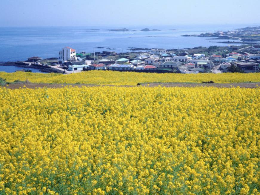
[[[26,60],[32,56],[58,57],[59,50],[65,46],[76,49],[77,53],[93,52],[94,47],[104,47],[96,48],[95,51],[129,52],[129,47],[183,49],[198,46],[209,47],[210,45],[227,46],[227,44],[216,43],[216,41],[226,40],[209,40],[208,37],[182,37],[181,35],[214,32],[215,30],[235,30],[257,25],[259,24],[0,27],[0,62]],[[107,29],[120,28],[136,31],[107,31]],[[161,31],[140,31],[143,28]],[[113,49],[109,50],[106,47]]]

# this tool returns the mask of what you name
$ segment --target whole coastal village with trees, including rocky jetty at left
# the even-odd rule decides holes
[[[216,46],[211,46],[215,48]],[[193,48],[194,49],[194,48]],[[195,48],[200,50],[200,47]],[[210,47],[208,48],[208,50]],[[222,50],[219,50],[222,49]],[[195,51],[197,51],[195,50]],[[59,51],[58,58],[42,59],[34,56],[16,64],[26,67],[51,68],[51,72],[78,73],[88,70],[115,70],[156,73],[226,73],[259,72],[260,44],[252,46],[216,47],[216,52],[193,53],[194,50],[150,49],[146,52],[116,53],[79,52],[71,47]]]

